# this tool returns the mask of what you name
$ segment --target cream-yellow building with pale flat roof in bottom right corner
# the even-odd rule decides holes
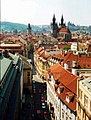
[[[91,77],[80,79],[77,87],[77,120],[91,120]]]

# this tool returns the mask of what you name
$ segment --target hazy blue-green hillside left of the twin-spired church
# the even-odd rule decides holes
[[[32,32],[48,32],[50,31],[49,25],[31,25]],[[1,31],[22,31],[26,32],[27,25],[12,22],[1,22]]]

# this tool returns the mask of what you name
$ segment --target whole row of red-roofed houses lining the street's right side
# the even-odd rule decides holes
[[[40,47],[34,61],[37,73],[47,81],[47,104],[53,120],[90,120],[90,55]]]

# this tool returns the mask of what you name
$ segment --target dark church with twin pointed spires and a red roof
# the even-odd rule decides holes
[[[65,42],[71,42],[71,32],[66,27],[66,24],[64,23],[63,15],[61,17],[61,23],[56,23],[56,17],[55,14],[53,15],[52,23],[51,23],[51,35],[55,38],[64,39]]]

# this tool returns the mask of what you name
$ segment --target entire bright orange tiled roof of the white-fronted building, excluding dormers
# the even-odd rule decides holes
[[[56,90],[58,97],[71,109],[76,110],[76,98],[74,97],[73,101],[69,103],[66,101],[66,95],[75,96],[77,89],[77,76],[72,75],[69,71],[65,70],[60,64],[55,64],[50,67],[49,74],[51,73],[54,77],[54,80],[60,82],[59,85],[54,85],[55,88],[64,88],[64,90],[59,94]]]

